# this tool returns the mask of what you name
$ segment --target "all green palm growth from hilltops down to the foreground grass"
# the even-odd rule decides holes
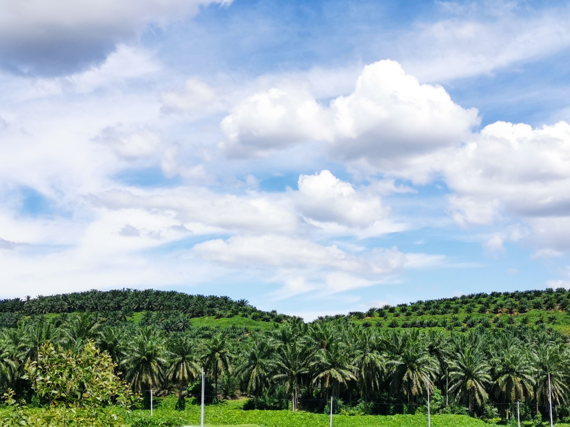
[[[198,396],[203,366],[207,399],[250,397],[245,409],[322,416],[332,395],[336,414],[425,413],[429,389],[433,413],[507,421],[520,401],[523,420],[538,423],[550,415],[550,376],[552,416],[563,421],[570,419],[570,350],[556,328],[567,325],[568,297],[564,289],[467,295],[309,324],[244,300],[174,292],[11,299],[0,304],[0,391],[36,407],[53,404],[32,368],[46,354],[67,366],[91,351],[116,364],[117,390],[127,384],[145,397],[135,407],[148,405],[152,388],[176,394],[184,410]],[[108,404],[131,399],[105,393]],[[66,399],[58,403],[80,407]]]

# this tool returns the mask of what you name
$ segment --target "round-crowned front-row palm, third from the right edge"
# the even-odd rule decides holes
[[[456,353],[455,358],[451,360],[450,391],[458,392],[460,396],[467,395],[469,412],[471,412],[473,398],[479,405],[487,400],[488,394],[485,387],[491,383],[490,368],[482,354],[469,347]]]

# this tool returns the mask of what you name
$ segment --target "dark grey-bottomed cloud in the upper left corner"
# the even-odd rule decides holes
[[[100,63],[148,24],[192,17],[231,0],[7,0],[0,3],[0,63],[20,73],[60,74]]]

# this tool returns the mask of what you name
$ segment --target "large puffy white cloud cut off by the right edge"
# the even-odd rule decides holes
[[[567,250],[570,224],[570,125],[533,129],[495,122],[442,165],[453,190],[457,223],[490,224],[502,215],[523,220],[535,245]]]

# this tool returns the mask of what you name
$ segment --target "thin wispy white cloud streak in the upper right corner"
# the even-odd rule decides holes
[[[390,40],[399,48],[393,51],[394,56],[421,81],[441,82],[490,74],[570,46],[567,7],[524,16],[517,7],[495,9],[491,14],[491,3],[495,2],[481,2],[475,10],[462,9],[452,18],[418,24]],[[477,15],[477,9],[483,16]]]

